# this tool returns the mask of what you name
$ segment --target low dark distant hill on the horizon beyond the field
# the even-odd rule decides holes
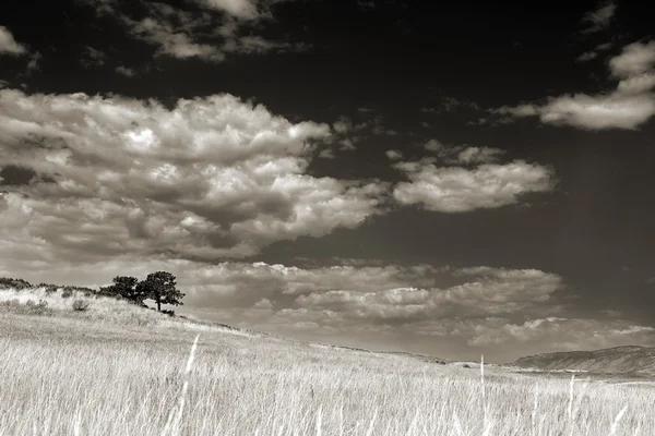
[[[626,346],[594,351],[543,353],[521,358],[510,365],[545,371],[655,374],[655,348]]]

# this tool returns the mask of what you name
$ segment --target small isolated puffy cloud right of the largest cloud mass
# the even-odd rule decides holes
[[[393,196],[401,204],[420,204],[433,211],[464,213],[515,204],[523,194],[547,192],[555,185],[553,172],[547,167],[523,160],[491,164],[502,154],[498,148],[449,147],[436,140],[424,147],[436,157],[393,166],[409,179],[394,187]]]

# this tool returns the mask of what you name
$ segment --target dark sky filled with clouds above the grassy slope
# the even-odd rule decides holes
[[[655,344],[641,3],[4,9],[0,275],[444,359]]]

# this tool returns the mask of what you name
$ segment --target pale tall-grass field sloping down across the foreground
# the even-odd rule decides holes
[[[1,435],[655,434],[645,385],[483,378],[44,290],[0,291],[0,404]]]

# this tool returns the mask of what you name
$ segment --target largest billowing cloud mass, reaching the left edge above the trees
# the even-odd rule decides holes
[[[68,258],[247,256],[355,228],[380,213],[388,186],[308,175],[308,145],[330,135],[327,124],[294,124],[230,95],[167,109],[4,88],[0,161],[48,182],[4,194],[3,225]]]

